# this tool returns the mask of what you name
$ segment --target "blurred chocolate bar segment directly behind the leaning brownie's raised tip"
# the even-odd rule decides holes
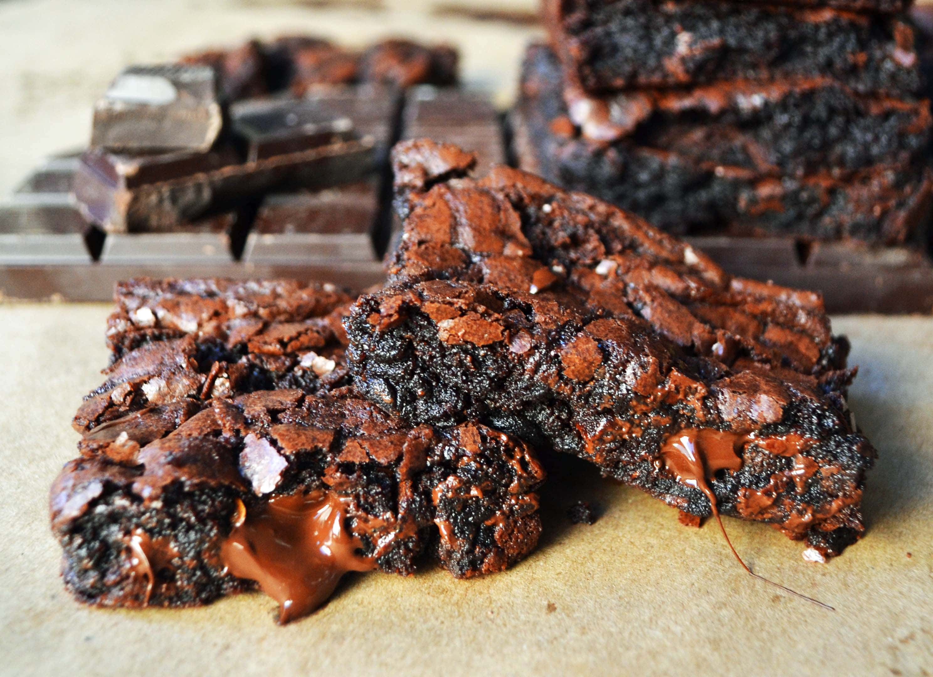
[[[480,169],[506,159],[499,114],[487,96],[422,85],[405,98],[403,139],[434,139],[469,148]]]

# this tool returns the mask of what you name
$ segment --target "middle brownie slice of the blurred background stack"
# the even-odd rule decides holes
[[[903,166],[926,150],[930,136],[926,99],[860,95],[824,77],[733,80],[606,97],[564,90],[564,98],[583,138],[626,139],[759,175],[839,177],[878,165]]]

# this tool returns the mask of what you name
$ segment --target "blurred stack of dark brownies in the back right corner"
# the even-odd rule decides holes
[[[683,234],[912,242],[930,111],[906,0],[545,0],[522,169]]]

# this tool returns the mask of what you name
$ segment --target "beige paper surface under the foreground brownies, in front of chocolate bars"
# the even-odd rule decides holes
[[[933,320],[852,317],[851,406],[881,453],[869,532],[827,565],[762,526],[714,528],[573,463],[545,490],[546,533],[515,569],[455,581],[357,575],[286,628],[262,595],[183,611],[102,611],[63,590],[47,491],[75,456],[69,421],[104,366],[105,306],[0,306],[0,673],[894,674],[933,672]],[[603,505],[592,526],[564,516]],[[910,553],[910,555],[908,554]],[[924,671],[926,670],[926,671]]]

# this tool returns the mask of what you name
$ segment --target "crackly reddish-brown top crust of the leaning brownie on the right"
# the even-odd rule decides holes
[[[393,161],[405,218],[396,283],[488,283],[588,321],[631,317],[736,372],[758,364],[818,377],[844,366],[847,343],[831,335],[818,294],[733,278],[640,217],[529,173],[466,178],[473,158],[455,146],[406,142]]]

